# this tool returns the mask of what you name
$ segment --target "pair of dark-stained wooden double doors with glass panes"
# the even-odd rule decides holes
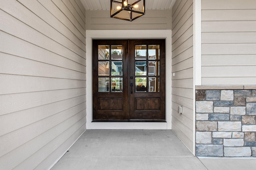
[[[165,40],[92,41],[93,121],[165,121]]]

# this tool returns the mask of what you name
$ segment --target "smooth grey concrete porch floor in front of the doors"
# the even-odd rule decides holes
[[[86,130],[51,170],[253,170],[255,159],[197,158],[172,130]]]

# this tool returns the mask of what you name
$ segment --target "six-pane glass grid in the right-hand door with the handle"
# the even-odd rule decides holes
[[[135,91],[160,91],[160,45],[135,45]]]

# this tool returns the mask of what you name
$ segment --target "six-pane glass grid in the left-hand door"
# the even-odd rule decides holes
[[[123,91],[122,59],[122,45],[98,45],[98,92]]]

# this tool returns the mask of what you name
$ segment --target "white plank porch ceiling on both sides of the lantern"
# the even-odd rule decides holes
[[[145,0],[146,10],[171,9],[176,0]],[[81,0],[86,10],[110,10],[110,0]]]

